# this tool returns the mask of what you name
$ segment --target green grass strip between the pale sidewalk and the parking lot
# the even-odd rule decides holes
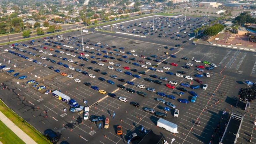
[[[8,108],[3,101],[0,101],[0,111],[12,121],[17,127],[24,131],[29,137],[31,137],[36,143],[48,144],[51,143],[42,133],[24,121],[14,111]]]

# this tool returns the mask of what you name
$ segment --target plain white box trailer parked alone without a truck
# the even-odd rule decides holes
[[[171,133],[179,133],[178,132],[178,125],[176,124],[173,124],[169,121],[166,121],[162,118],[160,118],[158,121],[157,121],[157,127],[160,127],[164,130],[168,130],[170,131]]]

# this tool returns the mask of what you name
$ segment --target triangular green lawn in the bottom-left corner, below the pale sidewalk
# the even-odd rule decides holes
[[[0,141],[4,144],[25,144],[11,129],[0,121]]]

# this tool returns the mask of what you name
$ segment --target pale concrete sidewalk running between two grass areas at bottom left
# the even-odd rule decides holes
[[[36,144],[36,142],[30,138],[25,132],[20,130],[13,122],[11,122],[2,112],[0,112],[0,120],[11,129],[24,143]],[[1,142],[0,142],[1,143]]]

